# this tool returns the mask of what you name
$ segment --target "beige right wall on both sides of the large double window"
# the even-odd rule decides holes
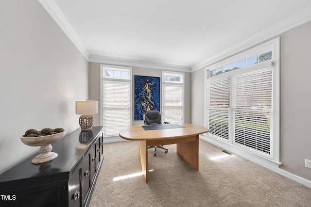
[[[311,21],[280,35],[280,168],[311,180]],[[204,122],[204,69],[192,72],[193,124]],[[199,100],[199,101],[197,101]]]

